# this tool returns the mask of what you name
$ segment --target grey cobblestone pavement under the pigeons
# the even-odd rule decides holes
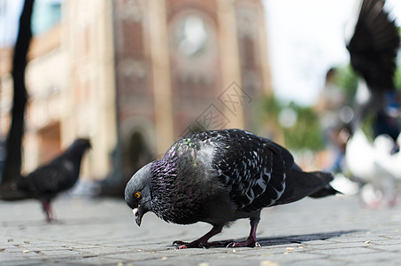
[[[355,197],[264,209],[258,248],[176,249],[174,240],[196,239],[211,226],[147,214],[139,228],[123,200],[65,196],[54,207],[58,222],[48,224],[35,200],[0,201],[0,265],[401,264],[401,207],[364,209]],[[241,220],[213,239],[243,239],[249,230]]]

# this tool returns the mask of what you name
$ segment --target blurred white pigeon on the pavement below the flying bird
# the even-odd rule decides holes
[[[401,141],[401,137],[397,138]],[[346,145],[345,162],[361,188],[360,199],[366,207],[392,207],[397,201],[397,184],[401,181],[401,153],[392,153],[393,138],[379,135],[371,142],[357,129]]]

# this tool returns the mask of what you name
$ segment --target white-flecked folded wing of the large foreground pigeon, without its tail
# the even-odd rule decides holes
[[[220,178],[231,188],[230,198],[246,212],[274,205],[285,191],[287,178],[279,149],[270,142],[254,141],[238,148],[228,157],[232,168],[224,162],[220,167],[224,169]]]

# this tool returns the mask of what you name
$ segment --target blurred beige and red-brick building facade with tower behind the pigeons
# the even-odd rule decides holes
[[[59,23],[31,43],[24,170],[90,137],[82,178],[127,178],[191,130],[253,129],[252,105],[271,93],[263,10],[258,0],[63,2]]]

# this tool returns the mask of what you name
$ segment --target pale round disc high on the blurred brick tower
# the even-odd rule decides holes
[[[204,53],[208,38],[208,31],[200,16],[189,14],[177,23],[177,48],[184,56],[196,57]]]

